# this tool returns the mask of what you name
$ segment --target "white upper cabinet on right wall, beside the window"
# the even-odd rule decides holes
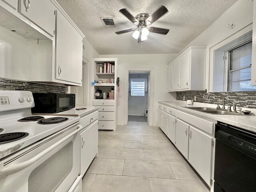
[[[204,90],[206,47],[191,46],[173,64],[173,90]],[[168,77],[169,78],[169,77]]]

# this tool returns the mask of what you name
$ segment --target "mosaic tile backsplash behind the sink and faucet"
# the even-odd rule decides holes
[[[225,105],[232,105],[228,101],[236,102],[237,106],[245,108],[256,108],[256,91],[248,92],[221,92],[225,96]],[[222,105],[222,96],[220,94],[212,94],[209,99],[207,91],[188,91],[188,92],[177,92],[176,99],[185,100],[194,99],[196,96],[196,102],[201,103],[211,103],[211,104],[221,104]]]

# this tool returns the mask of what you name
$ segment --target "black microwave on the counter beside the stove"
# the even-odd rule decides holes
[[[58,113],[75,107],[75,94],[33,93],[32,113]]]

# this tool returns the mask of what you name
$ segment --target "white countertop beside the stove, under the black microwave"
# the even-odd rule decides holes
[[[82,110],[76,110],[77,108],[86,108]],[[70,110],[58,112],[58,113],[34,113],[34,115],[54,115],[54,116],[75,116],[75,117],[83,117],[89,113],[92,113],[98,110],[99,107],[96,106],[76,106]]]

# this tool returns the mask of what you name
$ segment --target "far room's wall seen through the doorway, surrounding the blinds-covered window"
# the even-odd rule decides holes
[[[129,74],[129,86],[131,86],[131,78],[147,79],[148,82],[148,74]],[[148,108],[148,92],[146,92],[146,89],[144,96],[131,96],[129,90],[128,99],[128,115],[144,115],[145,108]]]

